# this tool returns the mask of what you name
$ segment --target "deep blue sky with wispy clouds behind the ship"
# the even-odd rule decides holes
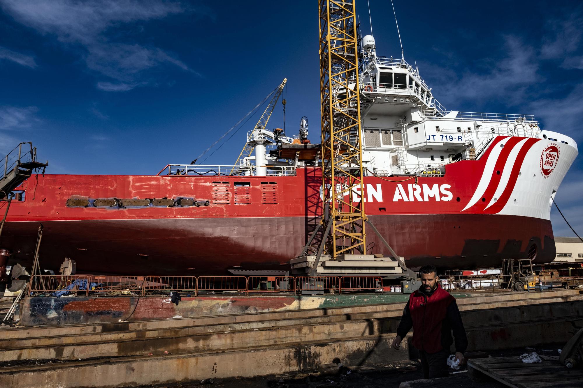
[[[317,142],[317,3],[0,0],[0,151],[31,140],[47,172],[156,174],[198,157],[283,77],[287,134],[305,115]],[[378,54],[399,57],[391,2],[370,5]],[[395,9],[405,59],[445,107],[534,114],[583,144],[581,2]],[[366,1],[357,12],[366,34]],[[257,119],[205,163],[233,164]],[[283,126],[281,104],[270,126]],[[580,234],[581,160],[556,197]],[[552,220],[556,235],[573,235],[556,210]]]

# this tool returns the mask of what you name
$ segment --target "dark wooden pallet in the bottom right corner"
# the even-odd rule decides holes
[[[559,356],[540,355],[542,362],[526,364],[518,357],[472,358],[470,376],[480,373],[514,388],[581,388],[583,369],[568,369]]]

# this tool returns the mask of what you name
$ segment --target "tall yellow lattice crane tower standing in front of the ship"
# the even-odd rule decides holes
[[[334,259],[366,253],[354,0],[319,0],[319,27],[323,238],[324,251]]]

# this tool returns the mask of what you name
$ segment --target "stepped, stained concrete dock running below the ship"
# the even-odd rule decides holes
[[[458,296],[469,351],[565,343],[583,317],[579,290]],[[87,298],[61,298],[71,300],[51,310],[40,309],[34,299],[46,299],[42,304],[47,305],[53,298],[28,298],[23,321],[37,324],[0,331],[0,386],[168,385],[318,371],[333,362],[379,367],[416,359],[407,341],[399,351],[390,347],[407,295],[339,297],[289,297],[290,304],[280,299],[288,297],[184,297],[178,306],[165,303],[164,297],[99,298],[100,305],[124,304],[136,312],[164,305],[174,306],[173,313],[189,313],[149,320],[134,313],[134,320],[122,322],[111,313],[118,310],[96,315],[87,311],[87,300],[75,300]],[[350,298],[352,306],[346,305]],[[75,303],[85,303],[82,314],[65,309]],[[38,324],[57,318],[67,323],[80,316],[88,322]],[[96,322],[104,319],[110,322]]]

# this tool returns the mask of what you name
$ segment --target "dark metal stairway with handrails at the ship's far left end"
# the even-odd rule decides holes
[[[30,150],[25,144],[30,145]],[[23,147],[24,146],[24,147]],[[37,168],[47,167],[36,159],[36,147],[31,142],[20,143],[4,158],[4,174],[0,178],[0,200],[8,199],[9,193],[30,178]]]

